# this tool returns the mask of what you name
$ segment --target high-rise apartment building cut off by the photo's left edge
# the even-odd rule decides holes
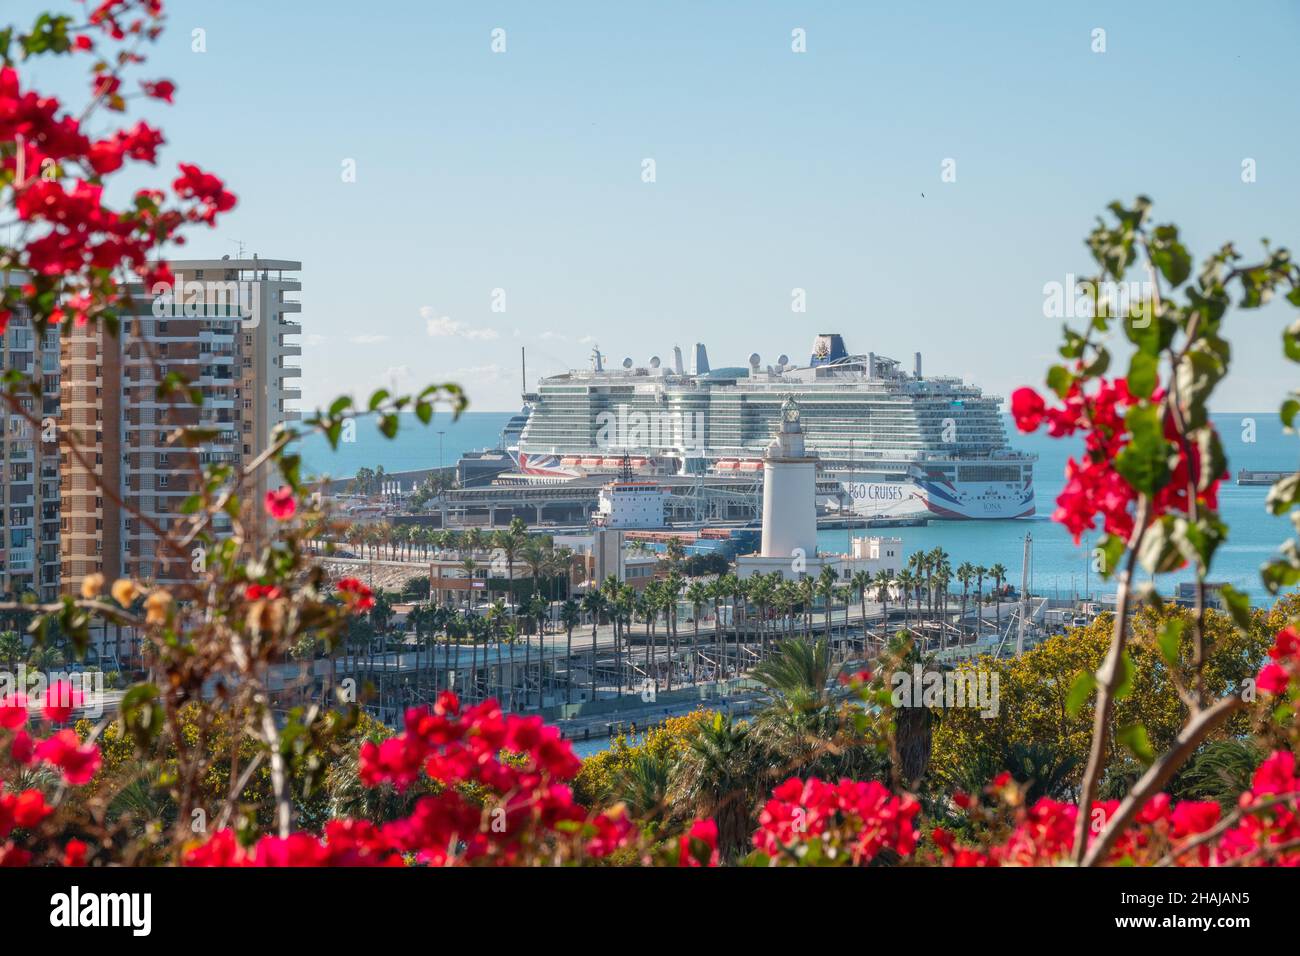
[[[6,281],[21,280],[0,277]],[[23,414],[0,405],[0,594],[51,601],[58,594],[58,329],[42,337],[18,310],[0,334],[0,363],[42,385],[39,398],[25,389],[12,395]]]

